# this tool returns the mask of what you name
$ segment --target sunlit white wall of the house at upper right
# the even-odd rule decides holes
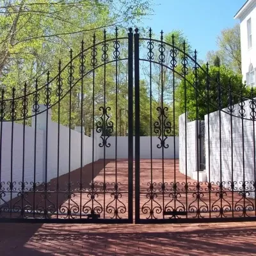
[[[244,81],[246,73],[249,71],[250,63],[256,68],[256,1],[246,6],[246,10],[238,18],[240,19],[241,31],[241,57],[242,57],[242,74]],[[252,48],[248,49],[247,20],[252,20]]]

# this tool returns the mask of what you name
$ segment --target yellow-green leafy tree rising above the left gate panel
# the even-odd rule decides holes
[[[1,0],[0,82],[29,85],[56,74],[58,60],[68,63],[68,49],[92,44],[92,33],[129,26],[151,12],[151,0]],[[99,32],[98,32],[99,31]]]

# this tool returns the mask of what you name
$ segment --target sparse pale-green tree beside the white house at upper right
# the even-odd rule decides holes
[[[239,24],[236,24],[233,28],[223,29],[221,34],[217,37],[216,44],[218,50],[208,52],[207,61],[209,61],[211,65],[214,65],[216,56],[219,56],[222,65],[225,65],[235,72],[241,73],[241,39]]]

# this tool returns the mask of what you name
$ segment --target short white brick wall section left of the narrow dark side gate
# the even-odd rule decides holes
[[[196,123],[198,126],[196,126]],[[196,132],[196,128],[198,128],[198,132]],[[197,148],[200,149],[198,140],[199,129],[199,121],[190,122],[188,118],[186,120],[185,113],[179,116],[179,170],[183,174],[185,174],[187,170],[188,177],[193,177],[193,172],[198,170],[199,154],[197,152]],[[197,157],[198,161],[196,160]]]

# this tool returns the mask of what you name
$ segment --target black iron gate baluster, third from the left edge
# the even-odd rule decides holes
[[[22,135],[22,183],[21,183],[21,217],[24,218],[24,175],[25,175],[25,132],[26,132],[26,117],[28,116],[28,99],[27,99],[27,83],[24,84],[24,99],[22,99],[22,117],[23,117],[23,135]]]

